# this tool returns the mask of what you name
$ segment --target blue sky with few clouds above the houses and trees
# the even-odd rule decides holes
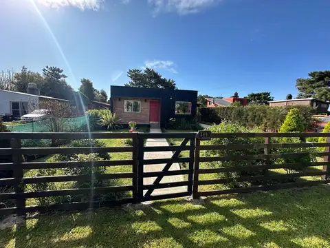
[[[109,92],[149,66],[179,89],[296,96],[296,79],[329,70],[330,1],[1,0],[0,70],[56,65],[74,88]]]

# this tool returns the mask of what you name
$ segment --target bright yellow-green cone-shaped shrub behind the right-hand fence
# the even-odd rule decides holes
[[[301,116],[298,109],[294,108],[287,114],[278,132],[304,132],[304,130],[303,116]]]

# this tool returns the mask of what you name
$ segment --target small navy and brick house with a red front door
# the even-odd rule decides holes
[[[164,126],[173,117],[195,118],[197,91],[142,87],[110,87],[111,112],[120,118],[120,124],[136,121],[138,124]]]

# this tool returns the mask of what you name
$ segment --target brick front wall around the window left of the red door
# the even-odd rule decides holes
[[[124,101],[125,100],[136,100],[141,102],[141,112],[124,112]],[[129,121],[136,121],[137,124],[147,124],[149,121],[150,114],[150,101],[151,99],[132,99],[132,98],[113,98],[113,112],[120,118],[120,124],[127,124]],[[157,100],[156,100],[157,101]]]

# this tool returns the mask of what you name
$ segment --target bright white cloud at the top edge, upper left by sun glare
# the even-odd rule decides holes
[[[32,0],[33,1],[33,0]],[[34,0],[50,8],[75,7],[80,10],[100,10],[104,0]]]

